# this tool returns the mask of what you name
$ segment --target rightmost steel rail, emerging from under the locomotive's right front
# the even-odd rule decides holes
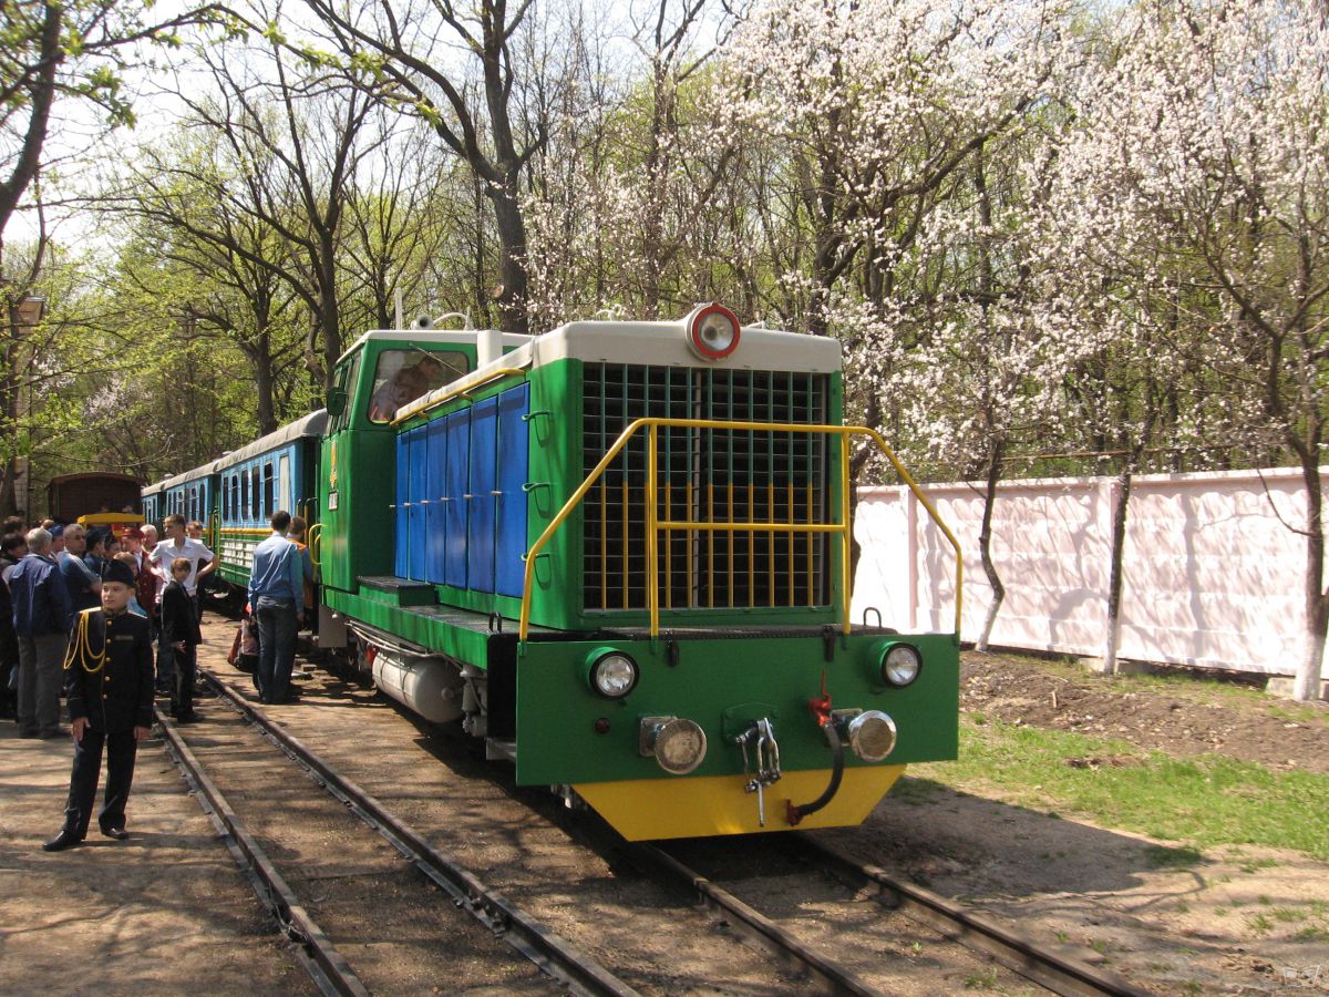
[[[859,883],[884,889],[888,907],[910,920],[925,924],[966,948],[991,956],[1007,969],[1061,994],[1112,994],[1144,997],[1148,990],[1132,985],[1122,976],[1098,969],[1078,958],[1050,952],[1033,939],[1005,928],[985,915],[969,911],[932,891],[905,883],[882,868],[868,865],[836,848],[811,837],[800,837],[803,847],[833,871]]]

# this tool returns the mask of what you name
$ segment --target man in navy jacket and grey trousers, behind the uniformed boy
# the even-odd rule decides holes
[[[28,556],[9,576],[9,593],[19,635],[19,736],[58,738],[61,663],[73,608],[47,530],[28,533]]]

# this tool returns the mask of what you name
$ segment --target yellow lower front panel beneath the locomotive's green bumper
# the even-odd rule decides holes
[[[861,824],[904,775],[905,766],[848,768],[840,791],[799,830]],[[788,831],[788,804],[811,803],[831,782],[831,770],[785,772],[766,788],[766,827],[758,823],[756,794],[744,792],[742,775],[678,779],[630,779],[573,786],[595,812],[629,841],[657,837],[706,837]]]

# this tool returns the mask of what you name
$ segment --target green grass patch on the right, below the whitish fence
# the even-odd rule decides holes
[[[1071,759],[1128,758],[1076,766]],[[1174,759],[1071,731],[961,719],[957,762],[914,766],[914,776],[1035,810],[1079,814],[1104,827],[1196,848],[1249,844],[1329,859],[1329,775],[1271,772],[1252,762]],[[905,782],[905,780],[901,780]],[[913,780],[910,780],[913,782]],[[1193,861],[1176,851],[1164,864]],[[1151,859],[1154,861],[1154,859]]]

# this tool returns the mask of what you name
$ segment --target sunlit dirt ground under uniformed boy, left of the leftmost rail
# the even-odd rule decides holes
[[[161,742],[138,754],[126,841],[66,852],[73,748],[0,720],[0,989],[7,994],[316,993]]]

